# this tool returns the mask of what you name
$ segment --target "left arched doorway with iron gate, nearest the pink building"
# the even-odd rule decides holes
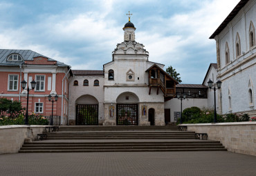
[[[98,125],[98,100],[91,95],[82,95],[75,101],[76,125]]]

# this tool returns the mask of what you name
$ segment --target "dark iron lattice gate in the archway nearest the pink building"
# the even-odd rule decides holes
[[[97,126],[98,104],[77,104],[76,125]]]

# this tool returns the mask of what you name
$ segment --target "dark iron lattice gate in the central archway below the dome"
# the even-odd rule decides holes
[[[117,104],[116,125],[138,126],[138,104]]]

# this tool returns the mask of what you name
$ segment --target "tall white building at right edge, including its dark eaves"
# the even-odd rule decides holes
[[[256,1],[241,0],[210,36],[217,47],[219,112],[256,115]],[[214,80],[215,81],[215,80]]]

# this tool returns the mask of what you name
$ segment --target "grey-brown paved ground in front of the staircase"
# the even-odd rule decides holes
[[[256,175],[256,157],[230,152],[17,153],[0,175]]]

